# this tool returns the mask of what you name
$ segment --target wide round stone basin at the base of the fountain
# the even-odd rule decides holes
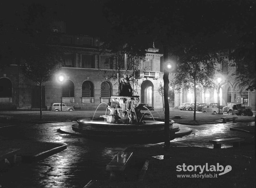
[[[111,124],[104,119],[79,119],[72,125],[72,129],[86,137],[99,140],[118,140],[123,143],[164,142],[164,119],[154,119],[143,119],[145,124]],[[170,139],[179,131],[179,126],[173,126],[173,123],[174,121],[170,120]]]

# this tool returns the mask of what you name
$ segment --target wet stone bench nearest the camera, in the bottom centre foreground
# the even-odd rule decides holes
[[[111,179],[123,178],[123,172],[129,166],[133,152],[120,151],[107,165],[106,170],[110,171]]]

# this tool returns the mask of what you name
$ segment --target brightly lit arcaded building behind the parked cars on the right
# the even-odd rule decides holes
[[[256,93],[254,91],[247,91],[247,87],[241,87],[239,81],[235,78],[233,73],[236,71],[236,66],[229,61],[229,50],[220,50],[219,64],[215,73],[215,83],[212,89],[197,88],[196,102],[199,103],[219,103],[226,106],[227,102],[241,102],[245,106],[250,106],[252,110],[256,110]],[[171,75],[170,80],[174,78]],[[218,83],[220,78],[220,83]],[[184,102],[194,102],[194,89],[175,90],[175,106],[179,106]]]

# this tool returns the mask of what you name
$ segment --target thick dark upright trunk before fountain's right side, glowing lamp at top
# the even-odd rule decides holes
[[[168,102],[168,90],[169,90],[169,69],[170,64],[167,64],[167,69],[164,69],[163,75],[163,95],[164,95],[164,150],[170,148],[170,111]]]

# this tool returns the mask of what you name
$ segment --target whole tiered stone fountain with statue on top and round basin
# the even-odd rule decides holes
[[[127,75],[121,80],[120,95],[111,96],[111,102],[107,104],[110,113],[96,119],[93,117],[92,120],[79,119],[72,129],[89,138],[129,143],[163,142],[164,119],[154,118],[151,113],[152,117],[145,117],[150,114],[141,112],[144,104],[138,104],[139,96],[132,95]],[[173,126],[173,123],[173,120],[169,120],[171,139],[179,131],[179,126]]]

